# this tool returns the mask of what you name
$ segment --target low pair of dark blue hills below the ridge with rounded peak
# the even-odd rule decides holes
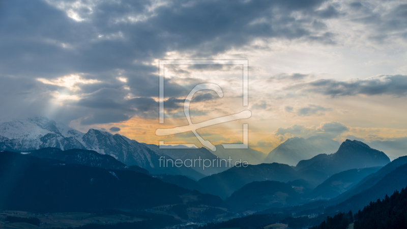
[[[381,167],[350,169],[335,174],[312,190],[305,180],[287,183],[277,181],[255,181],[246,184],[226,198],[226,203],[236,211],[261,211],[304,204],[315,199],[329,199],[350,189],[364,177]],[[311,191],[312,190],[312,191]]]

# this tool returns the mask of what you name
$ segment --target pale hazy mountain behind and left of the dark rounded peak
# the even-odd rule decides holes
[[[266,163],[277,162],[296,165],[299,161],[318,154],[334,153],[338,148],[339,142],[326,137],[312,136],[307,139],[292,137],[272,150],[264,161]]]

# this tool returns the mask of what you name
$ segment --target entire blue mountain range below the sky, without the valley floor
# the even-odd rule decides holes
[[[265,158],[252,149],[159,149],[101,130],[82,133],[46,118],[3,122],[0,185],[7,188],[0,191],[0,208],[80,211],[80,207],[181,205],[193,212],[194,207],[188,206],[205,205],[230,206],[237,212],[269,208],[295,214],[332,213],[357,210],[407,183],[407,157],[390,162],[384,152],[361,141],[345,140],[340,146],[335,142],[324,137],[290,138],[272,151],[278,159],[304,148],[308,158],[297,158],[294,166],[260,163],[270,154]],[[164,156],[174,160],[229,156],[254,160],[249,165],[212,167],[203,172],[199,168],[160,167],[158,159]],[[102,202],[105,198],[110,200]],[[42,206],[40,202],[49,203]],[[225,210],[215,212],[226,214]]]

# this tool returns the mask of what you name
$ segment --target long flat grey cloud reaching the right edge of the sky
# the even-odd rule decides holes
[[[407,95],[407,76],[385,75],[367,79],[338,81],[335,79],[319,79],[308,83],[297,84],[292,89],[313,92],[332,97],[355,95]]]

